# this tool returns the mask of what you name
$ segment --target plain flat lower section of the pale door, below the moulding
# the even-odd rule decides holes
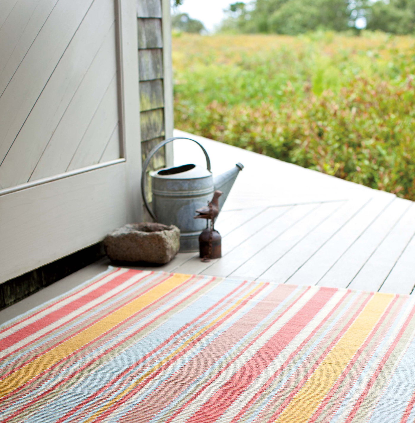
[[[125,163],[0,197],[0,280],[102,240],[126,222]]]

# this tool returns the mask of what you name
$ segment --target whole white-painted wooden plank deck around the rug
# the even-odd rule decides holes
[[[214,173],[236,162],[245,166],[215,225],[223,237],[223,257],[202,263],[198,253],[179,253],[165,266],[140,269],[412,293],[415,203],[195,135],[175,135],[201,141]],[[174,143],[175,164],[204,164],[196,144]],[[108,264],[88,266],[0,311],[0,322]]]

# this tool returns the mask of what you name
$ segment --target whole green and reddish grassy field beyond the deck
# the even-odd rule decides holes
[[[173,37],[175,127],[415,200],[415,38]]]

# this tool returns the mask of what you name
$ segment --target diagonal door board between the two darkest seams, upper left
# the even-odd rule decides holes
[[[13,144],[90,5],[91,0],[60,0],[56,4],[1,95],[0,161]]]

